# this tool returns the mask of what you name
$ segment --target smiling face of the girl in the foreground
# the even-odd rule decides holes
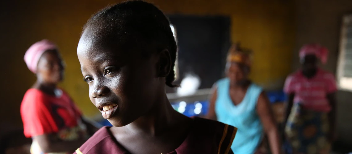
[[[158,77],[158,58],[140,51],[122,50],[117,43],[86,28],[77,55],[89,98],[103,118],[115,127],[125,126],[150,111],[164,82]]]

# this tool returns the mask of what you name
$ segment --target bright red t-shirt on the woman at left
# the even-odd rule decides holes
[[[78,125],[81,112],[70,96],[62,91],[61,96],[52,96],[38,89],[29,89],[21,103],[24,135],[32,136],[57,133],[64,128]]]

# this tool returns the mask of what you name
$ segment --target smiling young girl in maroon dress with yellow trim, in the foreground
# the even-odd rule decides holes
[[[98,130],[77,154],[232,153],[236,128],[188,118],[166,98],[176,51],[168,19],[147,2],[123,2],[88,20],[78,59],[90,100],[113,127]]]

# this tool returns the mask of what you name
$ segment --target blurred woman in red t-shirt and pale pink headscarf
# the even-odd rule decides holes
[[[24,60],[37,76],[20,109],[24,135],[33,140],[31,153],[73,152],[98,128],[84,120],[70,96],[57,87],[64,76],[57,46],[49,40],[36,42]]]

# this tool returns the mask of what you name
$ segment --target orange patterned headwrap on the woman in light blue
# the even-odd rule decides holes
[[[250,51],[241,49],[239,43],[233,44],[228,50],[227,61],[251,66]]]

